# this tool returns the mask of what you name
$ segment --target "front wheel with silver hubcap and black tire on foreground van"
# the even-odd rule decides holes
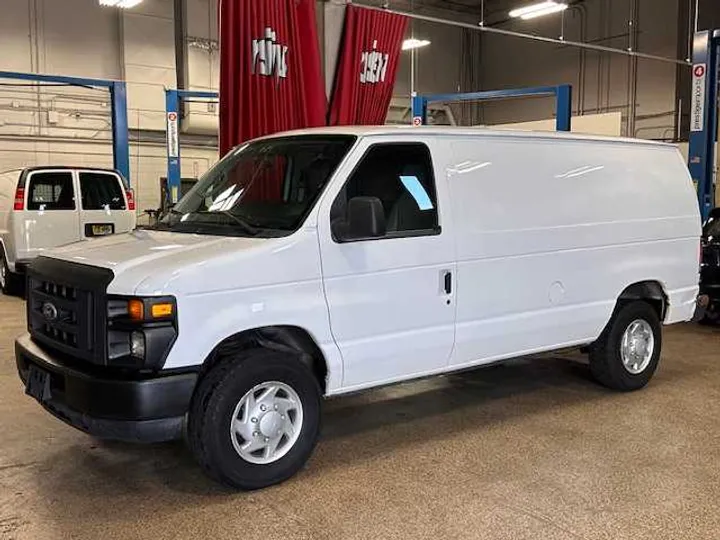
[[[196,390],[188,442],[205,472],[240,489],[294,475],[320,427],[320,389],[312,371],[287,354],[257,349],[225,358]]]

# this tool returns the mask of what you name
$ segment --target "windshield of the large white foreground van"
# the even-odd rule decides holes
[[[285,236],[312,209],[352,146],[350,136],[297,136],[241,145],[213,166],[156,228]]]

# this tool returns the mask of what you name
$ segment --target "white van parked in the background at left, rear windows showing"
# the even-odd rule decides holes
[[[135,219],[132,191],[116,171],[32,167],[0,172],[0,289],[17,289],[25,267],[45,250],[131,231]]]

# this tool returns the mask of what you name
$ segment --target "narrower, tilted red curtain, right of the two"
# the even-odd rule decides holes
[[[347,6],[331,125],[385,123],[407,22],[402,15]]]

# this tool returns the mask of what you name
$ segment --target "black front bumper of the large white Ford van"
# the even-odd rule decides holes
[[[15,341],[15,358],[24,384],[31,369],[43,374],[44,390],[35,396],[40,404],[81,431],[132,442],[182,437],[196,373],[138,379],[103,377],[64,365],[29,334]]]

